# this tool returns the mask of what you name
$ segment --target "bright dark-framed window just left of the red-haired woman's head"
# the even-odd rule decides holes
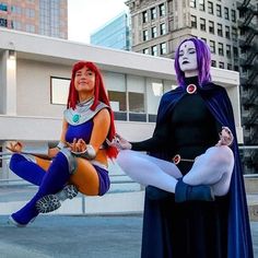
[[[70,79],[51,77],[51,104],[67,104]]]

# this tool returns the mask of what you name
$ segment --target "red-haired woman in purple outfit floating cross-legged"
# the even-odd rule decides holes
[[[114,115],[98,68],[87,61],[73,66],[60,142],[49,149],[51,162],[22,153],[20,142],[10,144],[15,152],[10,168],[20,177],[38,185],[37,194],[10,216],[16,226],[25,226],[40,212],[60,207],[60,200],[78,191],[102,196],[109,189],[107,159],[117,150],[106,144],[115,136]],[[21,153],[19,153],[21,152]],[[47,172],[47,173],[46,173]]]

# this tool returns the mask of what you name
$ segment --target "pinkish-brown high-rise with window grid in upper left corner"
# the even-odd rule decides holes
[[[3,0],[0,26],[67,39],[67,0]]]

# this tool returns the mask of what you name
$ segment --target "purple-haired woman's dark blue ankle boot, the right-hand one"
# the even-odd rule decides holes
[[[175,201],[214,201],[214,194],[210,186],[190,186],[183,181],[183,178],[178,179],[175,190]]]

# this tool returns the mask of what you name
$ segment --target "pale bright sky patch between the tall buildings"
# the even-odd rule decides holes
[[[90,35],[128,8],[126,0],[68,0],[68,39],[90,43]]]

